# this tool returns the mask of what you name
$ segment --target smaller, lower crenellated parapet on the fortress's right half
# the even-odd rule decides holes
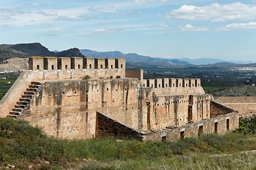
[[[201,79],[143,79],[142,86],[152,88],[156,94],[205,94]]]

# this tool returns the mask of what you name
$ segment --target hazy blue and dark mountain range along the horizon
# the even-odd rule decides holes
[[[97,52],[93,50],[79,50],[78,48],[71,48],[69,50],[64,50],[62,52],[49,51],[46,47],[41,45],[39,42],[34,43],[24,43],[16,45],[0,45],[0,63],[9,60],[14,57],[27,58],[31,56],[41,56],[41,57],[100,57],[100,58],[124,58],[127,62],[127,67],[166,67],[171,65],[192,65],[192,64],[215,64],[221,63],[221,65],[235,65],[228,64],[224,60],[218,59],[164,59],[159,57],[149,57],[144,55],[137,55],[136,53],[124,54],[119,51],[114,52]],[[245,62],[239,62],[243,64]],[[206,66],[207,67],[207,66]]]

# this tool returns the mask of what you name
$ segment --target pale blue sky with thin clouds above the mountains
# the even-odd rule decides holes
[[[1,0],[0,43],[256,62],[256,0]]]

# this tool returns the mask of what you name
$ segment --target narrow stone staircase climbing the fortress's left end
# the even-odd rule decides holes
[[[16,103],[14,108],[12,108],[12,111],[10,111],[9,115],[7,115],[7,117],[19,118],[21,115],[26,113],[31,104],[33,96],[36,95],[40,88],[41,83],[32,81],[31,84],[28,85],[28,88],[21,96],[21,98],[19,98],[19,101]]]

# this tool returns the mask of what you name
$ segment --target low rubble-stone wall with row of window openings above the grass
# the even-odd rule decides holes
[[[235,130],[238,128],[238,125],[238,114],[228,113],[227,115],[218,115],[215,118],[201,120],[198,123],[188,123],[179,128],[146,132],[142,140],[144,142],[161,142],[163,140],[176,141],[183,137],[198,137],[198,135],[206,135],[214,132],[218,133],[219,135],[223,135],[225,132]],[[215,126],[217,128],[215,128]]]

